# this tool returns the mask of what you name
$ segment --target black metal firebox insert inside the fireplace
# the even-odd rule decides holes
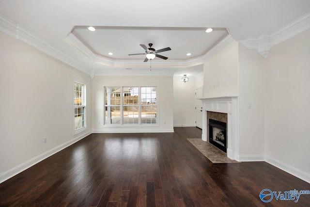
[[[227,124],[225,122],[209,119],[209,143],[223,152],[227,152]]]

